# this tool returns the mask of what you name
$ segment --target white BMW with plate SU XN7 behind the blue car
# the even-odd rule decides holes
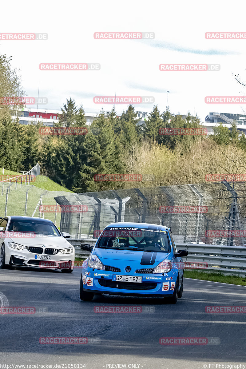
[[[72,273],[75,248],[48,219],[8,216],[0,220],[0,269],[8,266]]]

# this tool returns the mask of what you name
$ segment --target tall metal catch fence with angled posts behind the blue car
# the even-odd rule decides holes
[[[179,243],[246,244],[246,182],[160,186],[56,196],[60,229],[75,238],[98,238],[112,222],[166,225]]]

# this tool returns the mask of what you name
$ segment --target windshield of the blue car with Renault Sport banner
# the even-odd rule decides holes
[[[166,231],[142,228],[115,230],[106,228],[97,244],[101,249],[170,252]]]

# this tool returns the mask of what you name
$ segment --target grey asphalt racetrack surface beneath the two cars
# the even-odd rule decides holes
[[[205,312],[207,305],[246,305],[246,287],[185,279],[183,297],[169,305],[109,295],[80,301],[79,282],[80,269],[0,270],[2,306],[36,311],[0,314],[0,368],[246,368],[246,314]],[[94,312],[122,305],[151,312]],[[87,337],[88,343],[42,344],[41,337]],[[204,337],[216,344],[160,345],[161,337]]]

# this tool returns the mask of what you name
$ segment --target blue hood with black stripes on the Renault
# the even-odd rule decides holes
[[[112,250],[95,248],[93,254],[100,258],[103,264],[107,264],[108,259],[115,261],[135,261],[140,262],[141,265],[154,265],[156,262],[161,262],[167,259],[169,253],[153,252],[153,251],[133,251],[133,250]]]

